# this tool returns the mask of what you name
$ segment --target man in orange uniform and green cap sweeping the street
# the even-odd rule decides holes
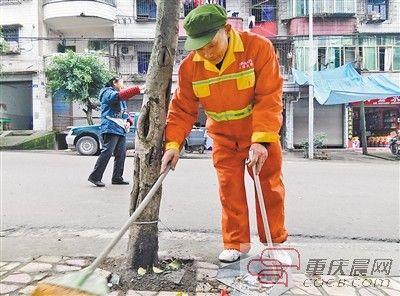
[[[161,171],[174,169],[185,137],[197,120],[201,104],[222,204],[222,262],[234,262],[250,249],[249,214],[244,174],[246,159],[256,166],[266,201],[272,240],[287,239],[282,182],[282,84],[272,43],[227,24],[219,5],[202,5],[184,20],[186,50],[178,85],[169,106]],[[249,170],[252,175],[252,169]],[[257,200],[257,199],[256,199]],[[260,241],[265,232],[256,203]]]

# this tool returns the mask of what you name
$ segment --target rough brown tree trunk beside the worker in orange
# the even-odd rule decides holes
[[[178,40],[179,6],[180,0],[157,2],[156,36],[135,139],[130,214],[146,196],[160,172],[165,118]],[[161,188],[139,219],[145,223],[134,224],[130,228],[128,264],[131,268],[148,268],[158,260],[160,199]]]

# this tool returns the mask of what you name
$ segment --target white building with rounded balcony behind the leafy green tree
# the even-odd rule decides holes
[[[107,44],[114,36],[116,1],[1,0],[0,10],[7,44],[1,53],[2,128],[63,130],[83,118],[79,105],[48,94],[45,65],[66,50],[93,50],[112,68]]]

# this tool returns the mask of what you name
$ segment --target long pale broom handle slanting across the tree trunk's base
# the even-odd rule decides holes
[[[99,256],[97,256],[97,258],[92,262],[92,264],[90,264],[86,268],[86,270],[88,271],[88,275],[93,273],[93,271],[97,267],[99,267],[99,265],[101,263],[103,263],[103,261],[107,258],[108,254],[110,254],[111,250],[120,241],[122,236],[129,229],[129,227],[133,224],[133,222],[135,222],[139,218],[140,214],[146,208],[147,204],[151,201],[154,194],[157,192],[158,188],[160,187],[161,183],[164,181],[170,168],[171,167],[168,166],[167,169],[158,177],[156,183],[154,183],[153,187],[147,193],[146,197],[142,200],[142,202],[139,204],[139,206],[136,208],[136,210],[132,213],[132,215],[129,217],[128,221],[126,221],[125,225],[122,226],[122,228],[119,230],[119,232],[115,236],[115,238],[107,245],[107,247],[103,250],[103,252]]]

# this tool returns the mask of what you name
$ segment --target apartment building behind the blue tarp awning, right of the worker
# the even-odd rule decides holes
[[[293,67],[307,70],[308,0],[279,1],[281,34],[293,41]],[[314,0],[314,70],[333,69],[356,62],[363,75],[384,74],[400,83],[399,0]],[[396,100],[389,99],[390,102]],[[381,107],[389,107],[384,106]],[[392,114],[398,106],[391,104]],[[286,147],[307,138],[308,93],[298,89],[285,93]],[[329,146],[347,147],[353,128],[352,105],[322,106],[316,101],[315,133],[325,133]],[[372,109],[371,109],[372,110]],[[397,111],[396,111],[397,110]],[[398,116],[398,115],[397,115]],[[393,115],[395,117],[395,115]],[[399,116],[398,116],[399,117]],[[371,127],[376,124],[370,124]],[[379,124],[381,125],[381,124]],[[394,125],[393,125],[394,127]],[[392,128],[393,130],[393,128]],[[369,131],[371,135],[373,131]],[[390,130],[377,131],[389,133]]]

